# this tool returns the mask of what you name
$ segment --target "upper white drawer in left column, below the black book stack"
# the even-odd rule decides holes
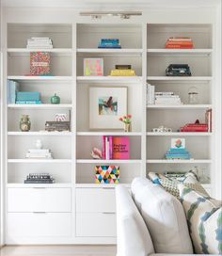
[[[8,212],[71,212],[71,188],[8,188]]]

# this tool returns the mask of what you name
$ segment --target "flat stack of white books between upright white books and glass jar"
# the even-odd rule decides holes
[[[155,104],[182,104],[182,101],[172,91],[155,92]]]

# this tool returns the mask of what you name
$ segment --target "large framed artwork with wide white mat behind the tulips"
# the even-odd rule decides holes
[[[89,128],[122,129],[127,113],[127,88],[89,88]]]

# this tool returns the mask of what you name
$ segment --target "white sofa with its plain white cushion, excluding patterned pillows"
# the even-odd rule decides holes
[[[194,254],[182,204],[160,185],[135,178],[116,200],[118,256]]]

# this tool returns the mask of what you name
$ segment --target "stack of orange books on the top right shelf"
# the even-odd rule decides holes
[[[194,49],[194,41],[186,37],[172,37],[167,40],[166,49]]]

